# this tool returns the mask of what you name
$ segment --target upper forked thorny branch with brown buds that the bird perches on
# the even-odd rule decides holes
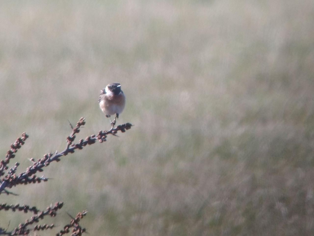
[[[44,176],[37,177],[35,174],[38,172],[42,172],[43,168],[48,166],[53,161],[60,161],[60,157],[66,156],[69,153],[74,153],[75,149],[83,149],[86,145],[91,145],[95,143],[97,140],[99,142],[105,142],[107,135],[112,134],[116,135],[118,131],[125,132],[126,130],[130,129],[132,124],[126,123],[122,125],[116,126],[116,128],[111,128],[109,131],[99,131],[98,135],[91,135],[86,137],[84,140],[80,139],[78,143],[73,143],[75,140],[75,134],[79,133],[80,127],[85,125],[85,118],[82,117],[76,126],[73,128],[72,133],[67,137],[67,146],[66,148],[61,152],[58,153],[57,151],[55,153],[47,153],[44,155],[43,158],[38,159],[35,161],[33,158],[31,159],[33,161],[33,164],[26,169],[26,171],[20,173],[19,175],[16,175],[15,172],[19,166],[19,163],[15,163],[15,165],[10,168],[8,171],[8,174],[5,175],[1,179],[1,185],[0,185],[0,194],[2,191],[4,191],[5,188],[12,188],[13,186],[19,185],[19,184],[29,184],[29,183],[40,183],[41,181],[47,181],[48,179]],[[2,160],[0,162],[0,176],[4,175],[4,170],[8,169],[7,164],[9,163],[10,159],[14,158],[14,153],[17,152],[17,150],[24,144],[24,141],[28,138],[28,135],[26,133],[22,134],[22,137],[19,137],[14,144],[11,145],[11,149],[8,150],[5,160]]]

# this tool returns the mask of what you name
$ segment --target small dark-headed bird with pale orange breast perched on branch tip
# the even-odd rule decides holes
[[[99,106],[106,117],[116,114],[116,117],[111,121],[112,128],[116,124],[116,119],[119,118],[119,114],[122,113],[125,106],[125,95],[121,90],[120,83],[109,83],[105,89],[100,90]]]

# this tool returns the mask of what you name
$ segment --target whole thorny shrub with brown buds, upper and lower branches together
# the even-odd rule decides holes
[[[80,139],[78,143],[73,143],[75,140],[75,134],[79,133],[80,127],[85,125],[85,118],[82,117],[75,127],[73,127],[70,123],[70,126],[72,128],[72,133],[67,137],[67,146],[66,148],[61,152],[58,153],[57,151],[55,153],[47,153],[44,155],[43,158],[38,159],[35,161],[34,158],[31,158],[30,160],[33,162],[33,164],[26,169],[26,171],[20,173],[19,175],[16,175],[15,172],[18,169],[19,163],[16,162],[13,167],[10,169],[8,168],[8,164],[10,162],[10,159],[15,157],[15,154],[18,149],[24,145],[25,140],[28,138],[28,135],[26,133],[22,134],[22,137],[19,137],[13,144],[11,144],[11,148],[8,150],[5,159],[0,161],[0,178],[4,175],[4,172],[7,171],[7,175],[2,177],[0,179],[0,194],[2,192],[6,194],[13,194],[6,190],[6,188],[12,188],[13,186],[19,185],[19,184],[29,184],[29,183],[40,183],[41,181],[47,181],[48,179],[44,176],[37,177],[35,174],[38,172],[42,172],[43,168],[48,166],[53,161],[60,161],[60,158],[62,156],[66,156],[69,153],[74,153],[75,149],[83,149],[86,145],[91,145],[95,143],[97,140],[99,142],[105,142],[107,135],[112,134],[116,136],[116,133],[118,131],[125,132],[126,130],[130,129],[132,124],[126,123],[122,125],[118,125],[116,128],[114,126],[111,127],[109,131],[99,131],[97,135],[93,134],[91,136],[86,137],[84,140]],[[9,170],[8,170],[9,169]],[[46,230],[54,228],[55,225],[51,224],[37,224],[33,226],[33,228],[29,228],[30,225],[34,223],[38,223],[41,219],[43,219],[45,216],[50,215],[51,217],[56,216],[57,210],[62,208],[63,202],[56,202],[54,207],[48,207],[46,211],[39,211],[36,207],[30,207],[28,205],[8,205],[6,203],[0,204],[0,211],[1,210],[11,210],[13,212],[15,211],[23,211],[25,213],[27,212],[33,212],[34,216],[30,219],[27,219],[25,223],[19,224],[19,227],[14,228],[12,231],[7,231],[7,229],[3,229],[0,227],[0,235],[8,235],[8,236],[15,236],[15,235],[29,235],[30,231],[39,231],[39,230]],[[82,219],[86,215],[87,211],[79,212],[75,218],[71,217],[72,220],[69,224],[65,225],[62,230],[60,230],[59,233],[57,233],[57,236],[62,236],[66,233],[70,232],[70,229],[72,228],[72,234],[71,236],[81,236],[82,233],[86,232],[85,228],[82,228],[79,225],[80,219]]]

